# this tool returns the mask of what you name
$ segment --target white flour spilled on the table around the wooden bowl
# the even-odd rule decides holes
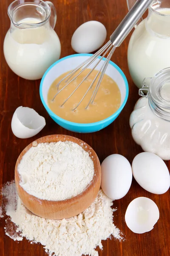
[[[2,190],[1,215],[6,219],[6,235],[20,241],[40,242],[49,256],[97,256],[97,246],[113,235],[121,240],[120,231],[113,224],[113,205],[100,189],[91,206],[79,215],[59,221],[40,218],[31,213],[17,196],[15,183],[6,183]]]

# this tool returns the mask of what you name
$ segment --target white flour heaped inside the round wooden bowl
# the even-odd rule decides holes
[[[82,193],[94,176],[88,152],[70,141],[40,143],[23,156],[20,185],[40,199],[61,201]]]

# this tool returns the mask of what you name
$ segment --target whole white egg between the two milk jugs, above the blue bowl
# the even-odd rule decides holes
[[[94,52],[105,42],[106,35],[106,28],[99,21],[85,22],[74,32],[71,47],[78,53]]]

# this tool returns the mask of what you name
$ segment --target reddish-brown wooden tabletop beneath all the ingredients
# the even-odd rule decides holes
[[[14,179],[14,167],[20,152],[33,140],[49,134],[68,134],[78,137],[91,145],[100,162],[110,154],[122,154],[132,162],[141,152],[131,137],[129,116],[136,100],[138,90],[133,84],[127,68],[127,45],[129,37],[112,57],[125,73],[129,82],[129,98],[119,117],[111,125],[94,134],[76,134],[59,127],[46,113],[39,96],[40,81],[26,81],[16,76],[7,66],[3,56],[3,40],[10,22],[7,15],[10,0],[0,1],[0,187]],[[73,54],[71,36],[75,29],[85,21],[102,22],[110,34],[127,13],[126,0],[53,0],[57,8],[56,31],[62,45],[61,57]],[[46,119],[45,128],[35,137],[18,139],[11,131],[11,118],[18,106],[34,108]],[[169,164],[170,167],[170,164]],[[125,211],[134,198],[146,196],[156,202],[160,218],[149,233],[132,233],[125,224]],[[125,235],[125,241],[103,241],[103,251],[99,256],[170,256],[170,192],[164,195],[153,195],[142,189],[133,179],[128,194],[121,200],[114,201],[114,223]],[[0,220],[0,256],[45,256],[43,246],[30,244],[25,239],[19,243],[5,235],[5,220]]]

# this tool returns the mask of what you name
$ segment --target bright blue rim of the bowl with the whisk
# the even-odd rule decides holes
[[[113,62],[113,61],[109,61],[109,64],[111,64],[113,67],[116,68],[116,70],[120,73],[120,75],[122,76],[124,82],[125,82],[125,89],[126,89],[126,95],[125,95],[125,99],[122,103],[122,105],[119,107],[119,109],[113,113],[111,116],[102,119],[101,121],[98,122],[92,122],[92,123],[77,123],[77,122],[71,122],[68,120],[65,120],[59,116],[57,116],[53,111],[51,111],[51,109],[48,107],[48,105],[45,103],[45,100],[43,98],[42,95],[42,87],[43,87],[43,83],[44,83],[44,79],[46,77],[46,75],[48,74],[48,72],[59,62],[67,59],[67,58],[73,58],[73,57],[79,57],[79,56],[92,56],[93,54],[91,53],[78,53],[78,54],[72,54],[72,55],[68,55],[66,57],[63,57],[61,59],[59,59],[58,61],[54,62],[44,73],[44,75],[42,76],[41,82],[40,82],[40,99],[41,102],[43,104],[43,106],[45,107],[46,111],[49,113],[50,116],[53,116],[54,118],[58,119],[60,122],[64,122],[67,125],[74,125],[74,126],[79,126],[79,127],[92,127],[92,126],[96,126],[96,125],[102,125],[105,122],[111,121],[114,117],[116,118],[116,116],[121,113],[122,109],[125,107],[125,104],[127,102],[128,99],[128,95],[129,95],[129,86],[128,86],[128,82],[127,82],[127,78],[125,76],[125,74],[123,73],[123,71]],[[99,56],[98,58],[102,58],[101,56]],[[103,58],[103,60],[105,60],[106,58]]]

